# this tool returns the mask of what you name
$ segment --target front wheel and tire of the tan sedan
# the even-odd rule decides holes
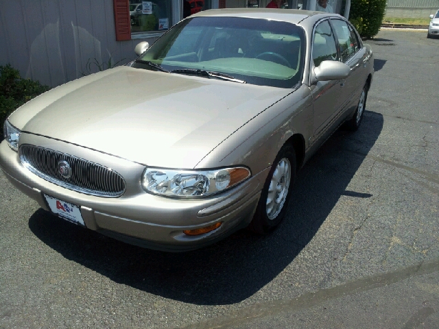
[[[295,178],[296,152],[292,145],[284,145],[268,173],[249,230],[267,234],[281,223],[287,212]]]

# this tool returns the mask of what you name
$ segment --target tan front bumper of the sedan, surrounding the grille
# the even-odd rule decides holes
[[[126,192],[117,198],[95,197],[71,191],[31,173],[18,154],[0,144],[0,167],[10,182],[50,211],[45,195],[80,206],[86,228],[134,245],[164,251],[186,251],[223,239],[250,223],[269,169],[252,176],[225,193],[200,199],[171,199],[146,193],[140,180],[145,166],[91,149],[21,134],[20,143],[38,145],[110,167],[126,180]],[[188,236],[195,230],[222,222],[216,230]]]

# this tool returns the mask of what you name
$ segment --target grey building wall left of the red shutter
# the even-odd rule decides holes
[[[136,58],[142,40],[116,41],[112,0],[1,0],[0,65],[51,87]],[[87,64],[88,63],[88,64]]]

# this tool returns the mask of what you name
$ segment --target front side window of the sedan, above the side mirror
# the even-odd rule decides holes
[[[317,25],[313,38],[314,66],[319,66],[324,60],[338,60],[334,34],[328,21]]]

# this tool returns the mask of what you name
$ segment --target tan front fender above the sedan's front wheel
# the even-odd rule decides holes
[[[245,165],[255,175],[272,165],[279,149],[294,134],[312,136],[313,106],[305,85],[250,119],[205,156],[195,168]]]

